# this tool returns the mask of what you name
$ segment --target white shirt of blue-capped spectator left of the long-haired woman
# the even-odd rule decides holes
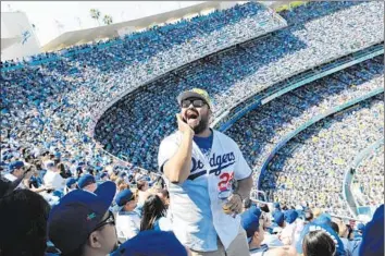
[[[134,237],[140,230],[140,217],[136,211],[119,211],[116,215],[117,239],[124,242]]]

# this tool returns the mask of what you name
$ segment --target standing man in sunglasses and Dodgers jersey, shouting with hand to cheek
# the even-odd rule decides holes
[[[252,187],[251,169],[232,138],[210,129],[213,106],[206,90],[183,92],[177,102],[178,130],[158,154],[172,230],[194,256],[249,256],[239,214]]]

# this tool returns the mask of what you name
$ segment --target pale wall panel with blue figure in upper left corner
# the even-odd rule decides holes
[[[24,12],[1,12],[1,61],[22,60],[41,52],[34,28]]]

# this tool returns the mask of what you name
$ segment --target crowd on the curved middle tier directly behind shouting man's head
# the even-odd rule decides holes
[[[308,15],[305,10],[312,4],[323,8],[320,2],[309,3],[302,8],[303,12],[299,15]],[[341,8],[344,4],[350,7],[351,3],[338,4]],[[353,22],[349,21],[355,12],[365,15],[364,10],[368,11],[368,17],[361,20],[360,16]],[[151,156],[156,153],[161,138],[175,129],[170,121],[177,111],[175,98],[178,92],[195,86],[204,88],[212,95],[215,103],[214,115],[219,117],[221,111],[236,103],[245,94],[257,93],[283,77],[299,72],[302,68],[311,68],[328,58],[351,52],[352,45],[357,46],[355,49],[358,50],[374,44],[382,38],[374,27],[376,24],[378,26],[383,24],[376,20],[376,14],[373,15],[373,11],[375,12],[372,8],[361,4],[346,8],[331,15],[308,21],[306,26],[309,28],[303,28],[302,24],[293,25],[269,38],[195,62],[123,97],[114,108],[101,117],[96,126],[95,137],[113,155],[123,154],[134,164],[156,169],[157,163]],[[369,20],[372,21],[371,24],[367,23]],[[325,27],[326,24],[330,24],[327,29],[331,29],[331,35],[335,35],[333,50],[328,49],[331,41],[323,45],[324,35],[323,33],[320,35],[320,27]],[[351,33],[356,28],[362,29],[362,26],[367,29],[352,36]],[[352,44],[358,42],[357,37],[361,36],[360,41],[365,41],[364,45],[359,47],[360,44]],[[328,53],[331,56],[327,56]],[[298,59],[301,61],[295,61]],[[293,64],[294,62],[296,64]]]

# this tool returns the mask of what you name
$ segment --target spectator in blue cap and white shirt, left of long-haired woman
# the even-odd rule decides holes
[[[120,210],[116,214],[116,231],[121,242],[134,237],[140,230],[140,216],[135,211],[136,197],[131,190],[116,195],[115,203]]]

